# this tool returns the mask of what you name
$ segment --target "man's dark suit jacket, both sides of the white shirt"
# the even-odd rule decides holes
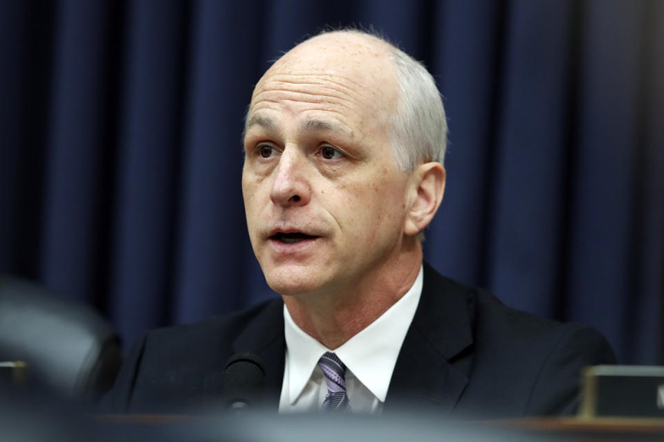
[[[510,309],[426,264],[424,271],[384,413],[414,404],[483,418],[569,414],[582,367],[616,362],[595,329]],[[277,410],[286,349],[282,309],[275,299],[149,332],[124,364],[105,411],[186,412],[213,404],[223,395],[225,361],[246,351],[263,359],[266,406]]]

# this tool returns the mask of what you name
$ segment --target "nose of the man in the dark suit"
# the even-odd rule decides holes
[[[270,199],[278,206],[304,206],[311,198],[306,159],[294,148],[284,149],[275,169]]]

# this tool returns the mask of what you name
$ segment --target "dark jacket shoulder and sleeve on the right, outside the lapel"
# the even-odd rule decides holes
[[[582,369],[616,363],[611,345],[593,327],[541,318],[483,289],[448,283],[473,309],[473,356],[463,397],[473,407],[495,417],[573,414]]]

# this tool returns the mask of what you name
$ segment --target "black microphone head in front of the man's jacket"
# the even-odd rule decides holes
[[[265,365],[251,352],[234,354],[226,361],[223,376],[223,406],[241,412],[259,403],[263,394]]]

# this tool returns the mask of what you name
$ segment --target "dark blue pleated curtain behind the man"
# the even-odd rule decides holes
[[[127,344],[275,296],[246,234],[243,113],[269,60],[351,24],[445,97],[434,267],[664,363],[664,1],[3,1],[0,271]]]

